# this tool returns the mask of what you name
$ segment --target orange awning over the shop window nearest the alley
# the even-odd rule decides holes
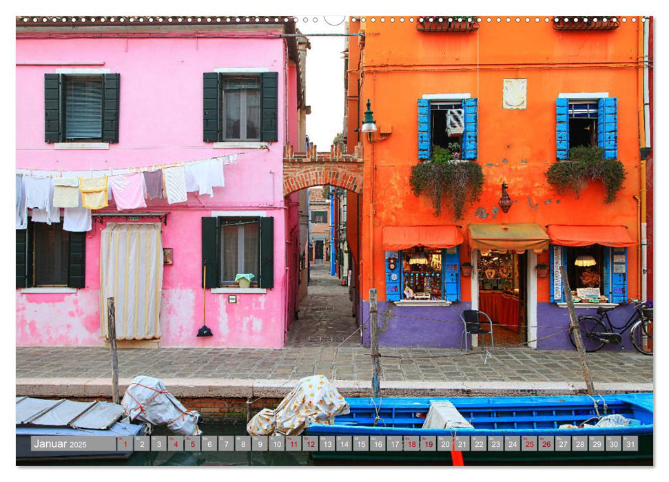
[[[460,229],[453,224],[445,226],[385,226],[383,228],[383,249],[399,251],[414,246],[426,248],[452,248],[462,244],[464,238]]]

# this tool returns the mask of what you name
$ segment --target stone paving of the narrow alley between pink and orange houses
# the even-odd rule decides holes
[[[329,264],[311,264],[309,293],[300,304],[300,319],[288,330],[286,346],[360,346],[349,287],[329,274]]]

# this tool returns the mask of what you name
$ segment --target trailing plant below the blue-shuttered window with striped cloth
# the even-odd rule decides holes
[[[483,169],[471,161],[455,161],[460,145],[432,147],[432,158],[411,168],[411,190],[415,196],[425,194],[432,202],[435,216],[442,211],[442,199],[453,208],[453,218],[462,218],[464,203],[474,202],[483,189]],[[457,147],[456,147],[457,145]],[[451,149],[453,149],[451,151]]]

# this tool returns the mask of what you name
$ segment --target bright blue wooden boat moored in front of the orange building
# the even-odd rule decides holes
[[[555,437],[575,435],[632,435],[638,436],[637,451],[462,451],[464,465],[468,463],[588,463],[609,461],[625,463],[639,459],[652,463],[653,395],[651,393],[564,397],[449,397],[449,398],[349,398],[351,410],[334,419],[332,425],[311,424],[307,435],[419,435],[446,436],[528,436]],[[423,428],[430,407],[436,402],[451,402],[473,428]],[[619,414],[630,421],[628,426],[559,428],[595,424],[599,416]],[[446,426],[446,425],[444,425]],[[553,439],[555,440],[555,439]],[[313,452],[313,458],[332,461],[386,461],[397,463],[420,460],[451,463],[453,454],[447,451],[419,452]],[[600,462],[601,463],[601,462]],[[606,463],[606,462],[605,462]]]

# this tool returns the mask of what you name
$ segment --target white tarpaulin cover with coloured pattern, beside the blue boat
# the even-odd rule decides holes
[[[276,410],[260,410],[246,431],[251,435],[299,435],[311,423],[331,424],[334,417],[349,411],[337,388],[323,375],[313,375],[300,379]]]

